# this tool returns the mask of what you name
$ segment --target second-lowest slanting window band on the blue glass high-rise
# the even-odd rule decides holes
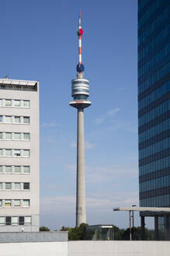
[[[156,190],[161,187],[170,186],[170,175],[162,176],[158,179],[147,180],[142,183],[139,183],[139,191],[144,192],[148,190]]]

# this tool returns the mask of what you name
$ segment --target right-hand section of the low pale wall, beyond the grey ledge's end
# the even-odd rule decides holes
[[[68,256],[168,256],[168,241],[75,241],[68,242]]]

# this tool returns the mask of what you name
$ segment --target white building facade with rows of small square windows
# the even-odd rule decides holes
[[[0,232],[39,231],[39,82],[0,79]]]

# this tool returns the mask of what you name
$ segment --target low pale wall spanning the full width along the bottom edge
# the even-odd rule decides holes
[[[72,241],[0,244],[0,256],[168,256],[168,241]]]

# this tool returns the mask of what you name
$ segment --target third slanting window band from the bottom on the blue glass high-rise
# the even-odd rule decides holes
[[[169,167],[170,167],[170,157],[167,156],[155,162],[150,162],[147,165],[140,166],[139,173],[140,173],[140,176],[142,176],[147,173],[156,172],[158,170],[169,168]]]

